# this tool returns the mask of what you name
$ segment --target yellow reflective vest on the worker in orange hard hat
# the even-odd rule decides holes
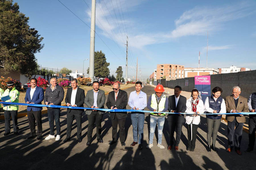
[[[153,109],[155,109],[156,112],[159,112],[159,111],[164,110],[165,101],[166,101],[166,95],[163,95],[163,96],[160,98],[159,102],[158,102],[156,95],[155,95],[155,94],[152,94],[152,96],[151,96],[151,105],[150,105],[150,106],[151,106]],[[150,113],[150,114],[155,115],[155,116],[165,116],[165,113],[162,113],[161,115],[158,115],[157,113],[153,113],[153,112],[152,112],[152,113]]]

